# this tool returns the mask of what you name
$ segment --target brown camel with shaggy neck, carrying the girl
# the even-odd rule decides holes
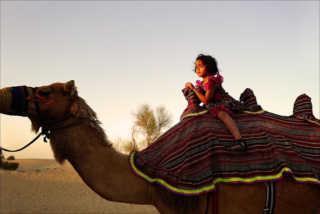
[[[2,90],[2,89],[1,89]],[[49,142],[55,160],[69,161],[95,193],[109,201],[153,205],[160,213],[212,213],[209,196],[172,193],[136,176],[128,155],[117,152],[100,127],[95,112],[78,96],[74,81],[38,88],[24,86],[23,107],[8,110],[1,92],[0,112],[27,116],[31,129],[50,130]],[[13,99],[13,98],[12,98]],[[13,105],[13,104],[12,104]],[[44,131],[43,131],[44,130]],[[320,188],[314,183],[296,183],[290,175],[275,181],[274,213],[311,213],[320,204]],[[265,184],[219,184],[219,213],[261,213]]]

